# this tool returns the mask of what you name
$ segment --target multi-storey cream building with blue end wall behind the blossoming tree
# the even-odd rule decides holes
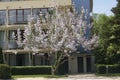
[[[12,33],[19,28],[24,31],[28,15],[36,16],[39,10],[43,14],[51,10],[54,4],[52,0],[0,0],[0,47],[4,52],[4,62],[10,66],[28,65],[50,65],[51,61],[45,58],[47,53],[29,55],[17,46],[12,39]],[[56,0],[60,6],[72,6],[79,11],[83,6],[90,13],[92,11],[92,0]],[[88,23],[90,15],[88,14]],[[21,34],[23,35],[23,34]],[[16,54],[17,53],[17,54]],[[50,57],[51,58],[51,57]],[[92,72],[94,69],[94,56],[91,54],[80,54],[68,59],[69,73]]]

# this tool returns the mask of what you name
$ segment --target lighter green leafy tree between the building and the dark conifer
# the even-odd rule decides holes
[[[113,16],[105,14],[93,14],[94,27],[92,32],[99,36],[99,46],[93,50],[96,56],[96,63],[108,63],[107,48],[109,46],[109,38],[111,36]]]

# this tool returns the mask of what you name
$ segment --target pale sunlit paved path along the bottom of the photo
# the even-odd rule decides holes
[[[79,75],[69,75],[65,78],[17,78],[15,80],[120,80],[120,77],[103,77],[95,76],[94,74],[79,74]]]

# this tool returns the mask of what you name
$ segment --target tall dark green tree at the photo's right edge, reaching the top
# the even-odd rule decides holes
[[[120,63],[120,0],[117,0],[117,2],[117,6],[111,9],[114,13],[114,18],[112,20],[113,27],[107,53],[110,55],[111,61]]]

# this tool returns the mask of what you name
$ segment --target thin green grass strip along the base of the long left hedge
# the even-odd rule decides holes
[[[67,77],[67,75],[13,75],[12,78],[34,78],[34,77],[45,77],[45,78],[61,78]]]

